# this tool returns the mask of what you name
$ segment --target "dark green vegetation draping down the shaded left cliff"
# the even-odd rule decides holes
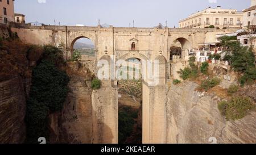
[[[48,138],[48,116],[63,108],[68,93],[69,78],[60,70],[64,65],[62,51],[45,46],[38,65],[32,72],[30,98],[27,100],[27,143],[39,137]]]

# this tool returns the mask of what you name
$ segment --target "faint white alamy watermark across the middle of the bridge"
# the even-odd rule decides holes
[[[134,59],[137,60],[137,59]],[[109,60],[99,60],[97,63],[98,79],[139,80],[147,81],[149,85],[159,84],[159,60],[117,60],[110,56]]]

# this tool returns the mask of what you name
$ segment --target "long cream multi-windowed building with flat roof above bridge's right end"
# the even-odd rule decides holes
[[[220,29],[224,27],[241,27],[243,13],[236,9],[217,8],[205,9],[182,19],[179,22],[180,28],[205,28],[213,25]]]

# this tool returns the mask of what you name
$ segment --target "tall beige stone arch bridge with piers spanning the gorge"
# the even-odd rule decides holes
[[[143,81],[143,143],[167,143],[165,99],[168,91],[166,83],[171,72],[170,47],[179,44],[183,51],[182,58],[185,58],[188,50],[198,47],[199,43],[216,41],[216,34],[236,31],[214,28],[36,27],[27,24],[14,24],[11,30],[17,32],[20,39],[26,43],[62,47],[67,58],[72,56],[75,41],[86,37],[95,45],[96,62],[101,59],[111,61],[110,56],[115,56],[116,60],[158,59],[159,85],[150,86],[147,81]],[[109,138],[109,130],[106,131],[104,125],[100,123],[94,123],[92,143],[118,143],[118,89],[116,88],[114,81],[106,81],[104,87],[92,95],[95,122],[97,120],[104,122],[113,135]]]

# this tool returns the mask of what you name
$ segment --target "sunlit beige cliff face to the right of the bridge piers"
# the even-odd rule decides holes
[[[166,98],[168,143],[210,143],[210,137],[217,143],[256,143],[256,112],[227,121],[217,107],[220,98],[214,94],[200,97],[196,87],[191,81],[171,86]],[[248,95],[255,98],[255,93]]]

